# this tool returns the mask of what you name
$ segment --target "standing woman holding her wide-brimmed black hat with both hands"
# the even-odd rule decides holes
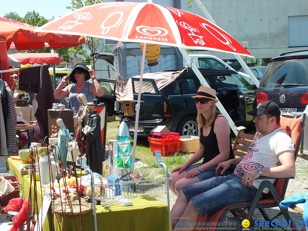
[[[87,80],[92,79],[92,83]],[[72,83],[64,89],[63,86],[70,80]],[[68,76],[64,76],[54,92],[55,99],[62,99],[69,96],[70,107],[74,111],[74,116],[77,115],[81,103],[78,102],[77,95],[83,93],[88,102],[92,102],[96,96],[103,96],[104,90],[95,78],[95,71],[81,63],[74,66],[73,71]]]

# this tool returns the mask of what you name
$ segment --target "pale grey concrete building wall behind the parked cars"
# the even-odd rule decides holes
[[[205,17],[196,2],[181,1],[182,10]],[[308,15],[307,0],[201,0],[217,25],[238,42],[249,41],[248,50],[256,58],[273,58],[308,47],[288,47],[288,16]],[[205,17],[206,18],[206,17]],[[222,52],[204,52],[221,59],[234,59]]]

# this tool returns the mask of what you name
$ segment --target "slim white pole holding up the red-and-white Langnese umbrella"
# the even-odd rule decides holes
[[[138,122],[139,122],[139,109],[140,109],[142,76],[143,76],[143,70],[144,70],[144,60],[145,60],[146,46],[147,46],[147,44],[144,43],[144,45],[143,45],[143,53],[142,53],[142,61],[141,61],[141,71],[140,71],[138,99],[137,99],[137,104],[136,104],[135,132],[134,132],[134,143],[133,143],[133,154],[132,154],[132,172],[134,172],[134,165],[135,165],[135,152],[136,152],[137,131],[138,131]]]

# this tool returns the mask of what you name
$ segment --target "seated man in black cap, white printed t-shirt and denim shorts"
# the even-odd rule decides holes
[[[197,222],[199,215],[203,217],[234,203],[251,202],[261,183],[256,180],[259,176],[295,176],[294,144],[280,127],[277,104],[264,101],[247,114],[255,116],[253,122],[257,132],[246,155],[218,164],[217,175],[223,174],[230,165],[237,165],[233,174],[181,188],[170,214],[174,230],[179,223],[189,223],[187,228],[192,228],[191,224]],[[189,221],[185,223],[187,217]]]

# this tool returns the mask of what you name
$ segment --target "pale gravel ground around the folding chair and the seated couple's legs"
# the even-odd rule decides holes
[[[305,193],[308,192],[308,168],[307,168],[307,160],[302,159],[301,157],[298,157],[296,160],[296,176],[295,179],[291,179],[288,184],[288,188],[286,191],[286,198],[291,197],[293,195],[296,195],[298,193]],[[170,171],[170,170],[169,170]],[[176,196],[170,192],[170,209],[174,205],[176,201]],[[164,202],[167,204],[167,197],[166,194],[160,194],[155,197],[156,199]],[[270,217],[274,217],[280,210],[278,207],[272,208],[272,209],[265,209],[266,212],[269,214]],[[246,211],[247,212],[247,211]],[[301,221],[301,224],[303,222],[303,217],[302,214],[295,212],[293,209],[289,209],[291,217],[294,219],[294,221]],[[241,221],[236,221],[234,219],[234,216],[229,213],[227,215],[227,219],[230,219],[230,222],[235,222],[236,223],[236,230],[242,230],[243,226],[241,225]],[[264,218],[262,217],[261,213],[259,210],[256,210],[255,213],[253,214],[253,220],[255,221],[264,221]],[[279,221],[284,221],[285,218],[283,216],[278,217]],[[270,228],[270,227],[254,227],[252,224],[248,227],[250,230],[266,230],[265,228]],[[263,228],[263,229],[262,229]],[[299,227],[298,227],[299,228]],[[269,229],[268,229],[269,230]],[[274,227],[271,230],[282,230],[278,227]],[[301,230],[301,229],[299,229]]]

